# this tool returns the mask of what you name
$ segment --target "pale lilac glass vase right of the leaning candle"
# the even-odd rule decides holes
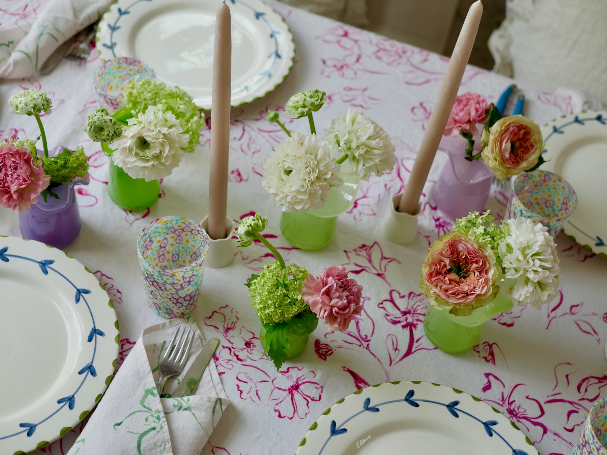
[[[439,145],[449,161],[434,186],[433,197],[436,206],[453,220],[470,212],[484,211],[493,178],[493,171],[483,160],[465,159],[466,146],[467,141],[462,136],[444,136]],[[481,140],[475,136],[474,152],[480,151]]]

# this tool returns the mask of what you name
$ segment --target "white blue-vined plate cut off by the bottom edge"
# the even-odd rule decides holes
[[[339,400],[305,434],[297,455],[539,455],[499,411],[459,390],[387,382]]]

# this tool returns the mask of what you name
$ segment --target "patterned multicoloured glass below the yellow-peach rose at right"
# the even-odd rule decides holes
[[[531,218],[548,227],[555,237],[576,205],[577,195],[566,180],[546,170],[534,170],[514,179],[507,217]]]

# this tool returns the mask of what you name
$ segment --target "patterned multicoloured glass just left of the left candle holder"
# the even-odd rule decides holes
[[[148,303],[162,317],[194,308],[205,271],[209,237],[185,217],[163,217],[144,227],[137,239],[139,265]]]

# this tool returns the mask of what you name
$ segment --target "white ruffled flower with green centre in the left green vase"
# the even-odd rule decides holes
[[[137,118],[129,118],[120,137],[109,144],[115,150],[112,160],[129,177],[158,180],[171,174],[179,165],[189,135],[171,112],[149,106]]]

